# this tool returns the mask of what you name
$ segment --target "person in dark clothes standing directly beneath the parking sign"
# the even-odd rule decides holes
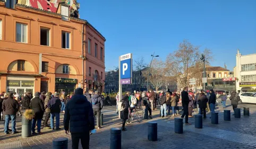
[[[127,130],[125,128],[125,122],[128,119],[128,115],[129,115],[129,97],[130,97],[130,92],[127,92],[125,97],[121,100],[122,108],[123,108],[123,111],[121,111],[121,119],[123,119],[123,123],[122,123],[123,131]]]

